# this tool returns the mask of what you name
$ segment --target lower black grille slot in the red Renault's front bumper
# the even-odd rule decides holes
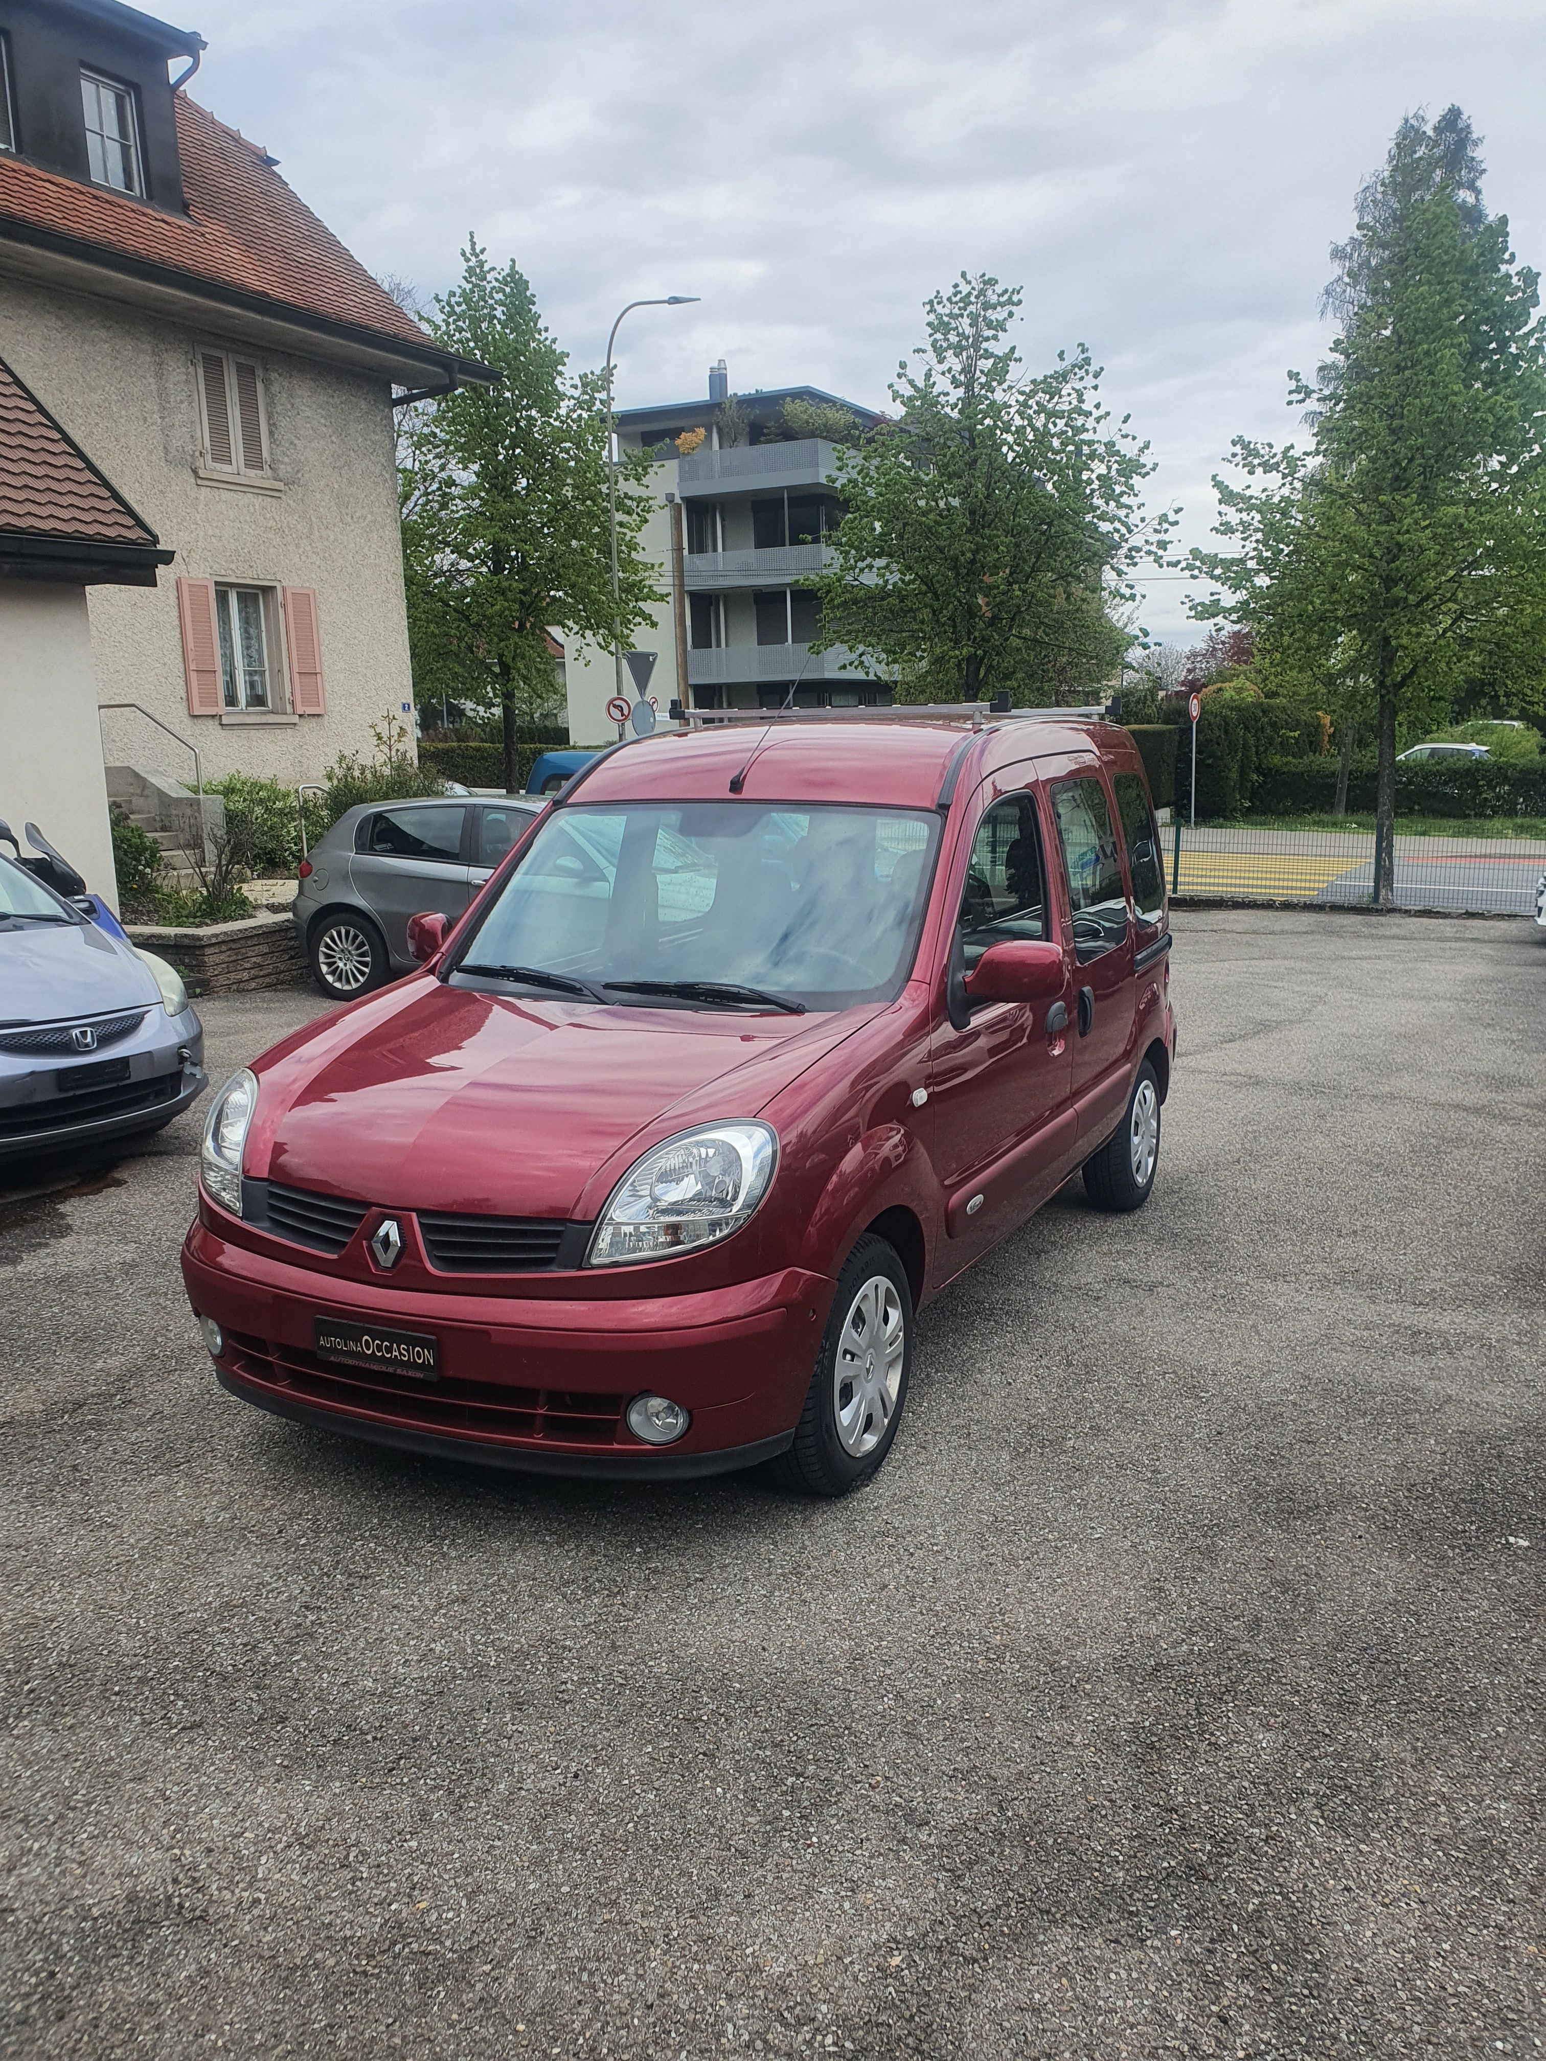
[[[301,1346],[227,1331],[233,1366],[274,1395],[418,1430],[519,1439],[524,1445],[629,1445],[625,1395],[522,1389],[503,1381],[412,1381],[377,1366],[336,1366]]]

